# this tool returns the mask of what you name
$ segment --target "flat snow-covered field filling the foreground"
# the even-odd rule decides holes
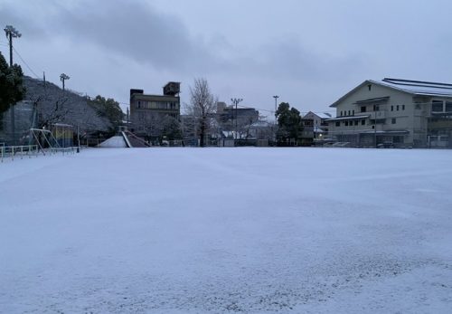
[[[99,148],[0,164],[2,313],[450,313],[452,151]]]

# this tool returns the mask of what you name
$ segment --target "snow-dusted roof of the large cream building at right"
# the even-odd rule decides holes
[[[334,101],[330,107],[336,107],[339,102],[344,100],[355,90],[362,88],[364,85],[369,83],[377,84],[380,86],[388,87],[392,90],[400,90],[412,95],[419,96],[442,96],[452,98],[452,84],[439,83],[433,81],[410,81],[410,80],[400,80],[400,79],[389,79],[385,78],[381,81],[366,80],[360,85],[356,86],[353,90],[347,92],[339,100]]]

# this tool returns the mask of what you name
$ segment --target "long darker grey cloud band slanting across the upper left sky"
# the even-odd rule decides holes
[[[351,63],[360,62],[309,52],[296,35],[255,43],[245,51],[234,46],[233,38],[231,42],[221,34],[207,39],[194,36],[177,15],[158,12],[140,0],[110,0],[102,5],[93,1],[53,1],[41,10],[36,5],[10,5],[4,9],[2,15],[6,12],[20,20],[24,32],[31,32],[33,37],[49,41],[56,36],[77,45],[97,45],[111,54],[151,65],[156,71],[196,76],[222,71],[232,76],[321,80],[335,79],[336,73],[343,75],[350,71]],[[24,10],[34,10],[35,18],[23,20]]]

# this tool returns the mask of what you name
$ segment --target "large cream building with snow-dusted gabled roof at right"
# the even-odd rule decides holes
[[[330,136],[355,147],[450,147],[452,84],[363,81],[330,107]]]

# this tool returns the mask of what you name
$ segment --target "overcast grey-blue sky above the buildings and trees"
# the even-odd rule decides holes
[[[0,0],[24,62],[57,84],[65,72],[71,90],[127,103],[130,88],[181,81],[186,102],[202,77],[228,103],[273,110],[279,95],[302,112],[331,111],[366,79],[452,82],[451,12],[446,0]]]

